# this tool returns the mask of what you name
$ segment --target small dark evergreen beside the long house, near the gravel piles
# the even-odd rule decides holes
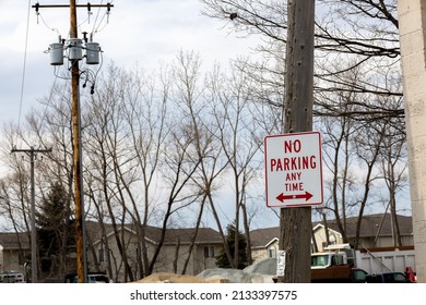
[[[236,243],[235,232],[236,232],[235,223],[229,223],[226,227],[226,242],[229,246],[229,251],[233,255],[233,259],[234,259],[235,243]],[[246,253],[246,237],[244,234],[238,232],[237,239],[238,239],[238,241],[237,241],[238,242],[238,266],[237,266],[237,268],[244,269],[247,267],[247,263],[248,263],[247,253]],[[222,252],[216,257],[216,266],[218,268],[230,268],[232,267],[225,252]]]

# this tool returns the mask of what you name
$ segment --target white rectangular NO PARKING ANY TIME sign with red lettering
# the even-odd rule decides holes
[[[322,205],[322,157],[319,132],[264,138],[268,207]]]

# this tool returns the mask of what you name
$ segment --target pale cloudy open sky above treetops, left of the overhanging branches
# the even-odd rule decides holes
[[[24,121],[25,113],[40,105],[37,99],[54,84],[54,66],[46,53],[59,35],[69,36],[68,8],[40,8],[34,4],[68,4],[68,0],[0,0],[0,113],[1,124]],[[76,1],[86,4],[87,1]],[[138,64],[157,68],[173,60],[179,50],[200,54],[204,65],[226,63],[237,56],[249,56],[253,38],[239,38],[224,24],[202,15],[199,0],[110,0],[106,9],[78,9],[79,38],[95,32],[93,40],[103,50],[104,64]],[[107,1],[92,1],[106,4]],[[103,65],[105,66],[105,65]]]

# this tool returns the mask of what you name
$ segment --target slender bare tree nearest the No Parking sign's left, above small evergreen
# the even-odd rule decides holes
[[[262,142],[257,133],[256,121],[251,120],[253,110],[250,84],[245,73],[233,70],[227,81],[212,83],[214,94],[212,110],[223,152],[228,161],[228,171],[232,176],[235,205],[235,253],[232,266],[238,266],[238,236],[240,220],[248,243],[248,257],[250,255],[249,219],[246,206],[248,185],[257,178],[260,162],[257,161]]]

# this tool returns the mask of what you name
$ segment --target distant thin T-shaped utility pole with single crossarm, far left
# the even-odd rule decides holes
[[[16,149],[13,148],[12,152],[25,152],[29,156],[31,162],[31,281],[36,283],[38,281],[38,265],[37,265],[37,232],[35,227],[35,185],[34,185],[34,161],[36,154],[50,152],[50,149]]]

